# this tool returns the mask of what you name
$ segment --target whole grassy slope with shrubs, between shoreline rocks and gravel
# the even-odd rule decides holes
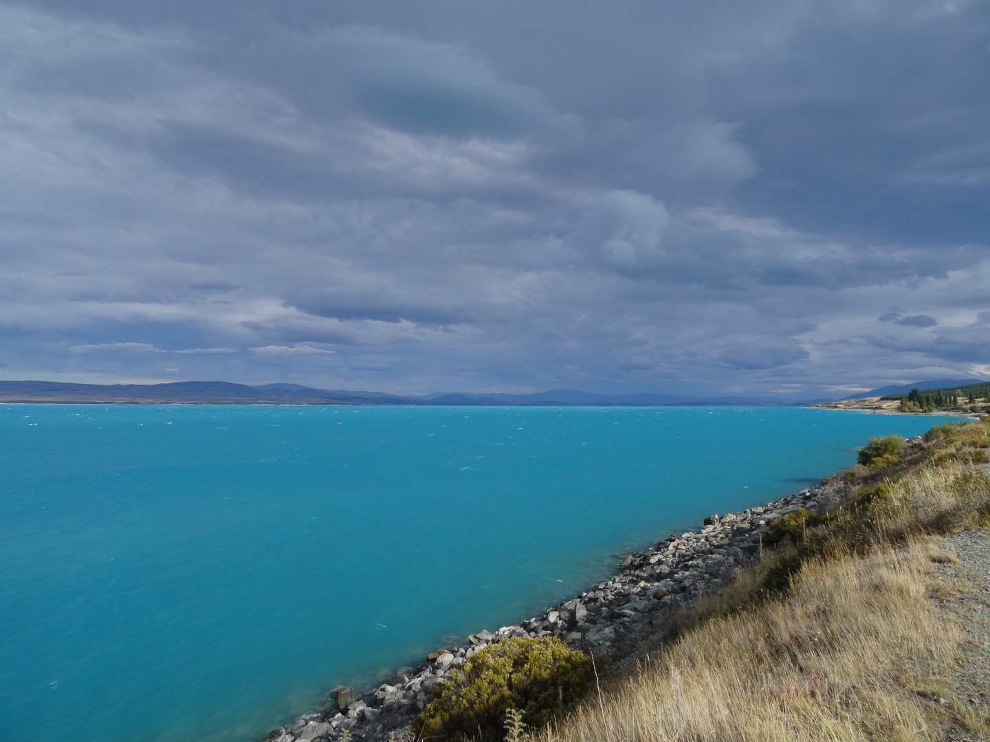
[[[944,428],[943,428],[944,430]],[[711,617],[656,647],[550,734],[581,740],[937,740],[987,733],[946,708],[959,635],[929,594],[931,535],[986,523],[990,423],[931,436],[910,465],[850,473],[855,494],[820,526],[784,539],[701,608]],[[877,480],[887,484],[877,487]],[[794,572],[795,570],[796,573]],[[783,593],[765,589],[790,579]],[[787,580],[785,580],[785,583]]]

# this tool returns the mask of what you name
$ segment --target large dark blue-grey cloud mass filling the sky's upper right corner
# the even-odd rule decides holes
[[[814,231],[984,240],[985,3],[822,3],[777,44],[712,69],[761,167],[739,203]],[[795,156],[797,155],[797,156]]]

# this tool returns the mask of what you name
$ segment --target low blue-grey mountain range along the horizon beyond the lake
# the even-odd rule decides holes
[[[845,399],[906,394],[983,384],[980,379],[934,379],[891,385]],[[472,394],[435,392],[402,396],[384,392],[314,389],[301,384],[263,384],[257,387],[225,381],[180,381],[165,384],[67,384],[54,381],[0,381],[0,403],[105,405],[431,405],[431,406],[677,406],[677,405],[813,405],[833,399],[782,403],[766,397],[686,397],[671,394],[592,394],[553,389],[536,394]]]

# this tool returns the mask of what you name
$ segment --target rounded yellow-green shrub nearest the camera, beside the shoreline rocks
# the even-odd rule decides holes
[[[413,722],[417,738],[502,738],[510,708],[543,727],[583,696],[591,660],[559,639],[515,637],[485,647],[434,687]]]

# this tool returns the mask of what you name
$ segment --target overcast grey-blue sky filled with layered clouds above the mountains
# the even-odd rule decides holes
[[[0,4],[0,377],[990,375],[990,5]]]

